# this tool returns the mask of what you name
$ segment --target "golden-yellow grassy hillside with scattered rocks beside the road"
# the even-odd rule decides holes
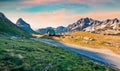
[[[53,37],[56,40],[92,48],[108,48],[120,54],[120,36],[100,35],[88,32],[73,32]]]

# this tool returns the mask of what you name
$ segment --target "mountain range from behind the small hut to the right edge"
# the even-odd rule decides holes
[[[52,27],[51,27],[52,28]],[[119,35],[120,34],[120,20],[107,19],[105,21],[94,20],[92,18],[81,18],[73,24],[67,27],[59,26],[53,28],[56,33],[74,32],[74,31],[87,31],[98,34],[110,34]],[[37,30],[40,34],[44,34],[47,28],[42,28]]]

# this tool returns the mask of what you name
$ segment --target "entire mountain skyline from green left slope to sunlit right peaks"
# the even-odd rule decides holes
[[[120,20],[114,18],[99,21],[92,18],[81,18],[75,23],[68,25],[67,27],[59,26],[57,28],[40,28],[36,32],[45,34],[49,28],[55,30],[57,34],[74,31],[87,31],[98,34],[120,35]],[[0,12],[0,33],[26,35],[28,33],[31,34],[36,32],[33,31],[31,26],[22,18],[19,18],[16,24],[14,24],[9,19],[7,19],[3,13]]]

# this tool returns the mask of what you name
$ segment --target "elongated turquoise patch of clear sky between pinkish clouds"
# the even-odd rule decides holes
[[[56,10],[68,10],[74,11],[75,13],[86,13],[92,10],[92,7],[85,4],[44,4],[44,5],[36,5],[31,8],[23,9],[24,12],[53,12]]]

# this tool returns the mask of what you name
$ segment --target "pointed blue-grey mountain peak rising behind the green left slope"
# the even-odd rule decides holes
[[[35,33],[35,31],[32,30],[31,26],[26,23],[22,18],[19,18],[17,20],[16,25],[21,29],[25,30],[26,32]]]

